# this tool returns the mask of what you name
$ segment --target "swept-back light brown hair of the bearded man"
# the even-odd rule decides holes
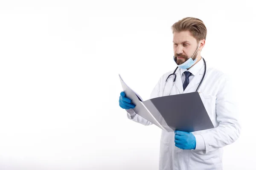
[[[197,42],[206,40],[207,29],[202,20],[193,17],[186,17],[172,25],[172,34],[174,32],[189,31]]]

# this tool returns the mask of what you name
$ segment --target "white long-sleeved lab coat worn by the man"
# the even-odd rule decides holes
[[[236,104],[233,102],[232,97],[235,91],[230,88],[230,81],[225,74],[212,68],[208,62],[206,64],[206,75],[198,92],[200,92],[201,99],[214,128],[192,132],[196,137],[195,150],[182,150],[176,147],[174,132],[162,130],[159,170],[222,170],[223,147],[239,138],[241,127],[238,122]],[[176,83],[173,86],[171,95],[196,91],[204,74],[204,65],[199,69],[198,74],[195,75],[185,91],[183,91],[180,68],[178,68],[176,71]],[[166,82],[164,91],[163,86],[166,78],[171,73],[173,71],[160,77],[150,98],[169,95],[174,76],[171,76]],[[182,105],[186,106],[186,104]],[[143,125],[152,125],[148,120],[135,114],[133,109],[126,111],[129,119]]]

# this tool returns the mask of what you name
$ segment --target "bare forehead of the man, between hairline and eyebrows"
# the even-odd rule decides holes
[[[196,43],[196,39],[192,37],[189,31],[181,31],[173,33],[173,42],[182,43],[182,42],[190,42]]]

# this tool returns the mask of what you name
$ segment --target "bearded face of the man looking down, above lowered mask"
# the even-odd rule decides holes
[[[202,42],[200,44],[202,44]],[[198,49],[198,51],[196,51],[198,48],[198,42],[194,37],[192,37],[189,31],[173,33],[173,51],[177,65],[184,63],[186,60],[192,57],[193,54],[195,54],[192,58],[193,60],[197,56],[200,57],[198,53],[201,51],[202,45],[200,46],[201,47]]]

